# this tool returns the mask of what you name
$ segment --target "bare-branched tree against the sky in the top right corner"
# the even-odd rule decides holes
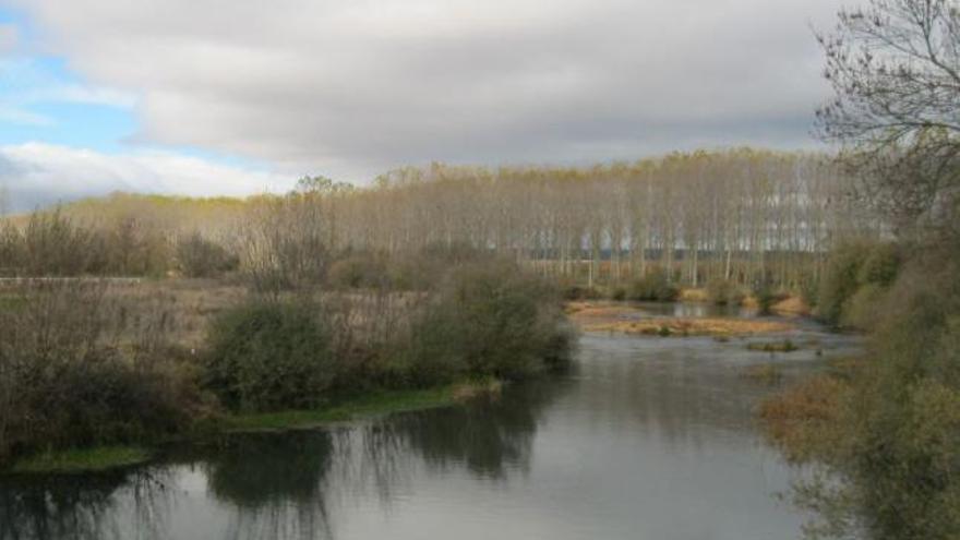
[[[957,227],[960,12],[955,0],[871,0],[818,35],[836,98],[824,137],[845,145],[872,200],[902,225]]]

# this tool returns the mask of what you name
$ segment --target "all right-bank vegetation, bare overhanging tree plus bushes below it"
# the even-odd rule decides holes
[[[837,97],[820,111],[888,242],[830,255],[819,313],[871,331],[864,358],[768,401],[792,458],[842,479],[799,487],[814,536],[960,537],[960,11],[872,0],[820,37]]]

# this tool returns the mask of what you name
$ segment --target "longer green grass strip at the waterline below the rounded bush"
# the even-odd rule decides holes
[[[238,432],[309,429],[391,412],[446,407],[456,403],[456,388],[451,385],[430,389],[379,392],[316,410],[231,415],[223,419],[220,430]]]

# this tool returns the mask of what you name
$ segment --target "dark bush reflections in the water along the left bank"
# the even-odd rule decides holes
[[[230,539],[334,538],[334,503],[358,504],[357,495],[373,489],[389,505],[396,487],[424,468],[464,468],[495,480],[528,470],[539,418],[562,387],[527,384],[470,405],[360,425],[230,435],[172,448],[159,463],[124,472],[7,478],[0,540],[178,538],[202,530]],[[190,499],[187,485],[197,472],[206,479],[201,500]]]

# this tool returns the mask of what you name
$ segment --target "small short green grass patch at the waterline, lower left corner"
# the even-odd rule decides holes
[[[137,446],[97,446],[83,449],[52,451],[16,461],[12,472],[93,472],[130,467],[151,458],[152,453]]]

